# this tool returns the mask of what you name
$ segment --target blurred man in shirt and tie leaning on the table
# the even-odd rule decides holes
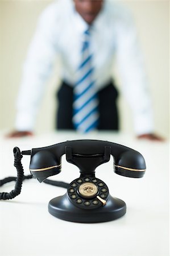
[[[24,64],[16,130],[10,137],[33,133],[44,86],[58,55],[62,83],[57,93],[57,129],[118,130],[118,92],[111,79],[116,60],[136,135],[160,139],[154,134],[134,24],[126,10],[106,0],[61,0],[40,16]]]

